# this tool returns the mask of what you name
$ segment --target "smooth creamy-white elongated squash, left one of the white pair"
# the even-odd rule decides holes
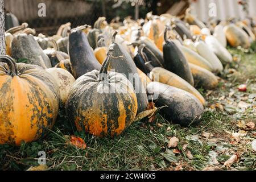
[[[199,40],[195,43],[197,52],[207,60],[213,68],[213,72],[221,72],[223,70],[223,65],[218,57],[210,50],[207,44]]]

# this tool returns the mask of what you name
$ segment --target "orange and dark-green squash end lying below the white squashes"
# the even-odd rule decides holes
[[[196,88],[216,88],[216,86],[218,85],[218,79],[212,72],[209,72],[207,69],[198,67],[195,64],[189,63],[189,66],[191,68],[191,72],[195,80]]]

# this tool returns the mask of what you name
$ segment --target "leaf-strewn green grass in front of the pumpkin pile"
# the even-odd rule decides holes
[[[116,138],[96,138],[92,135],[78,133],[60,110],[55,127],[46,138],[37,142],[23,143],[20,147],[0,146],[0,169],[26,170],[31,166],[38,166],[38,152],[47,154],[47,166],[51,170],[201,170],[209,163],[209,152],[217,152],[217,166],[233,154],[239,154],[238,162],[233,169],[255,169],[256,156],[251,150],[250,142],[255,139],[255,130],[246,129],[247,135],[237,144],[232,144],[228,132],[241,130],[236,126],[238,120],[255,122],[255,98],[243,100],[254,105],[245,111],[237,110],[226,98],[239,102],[244,97],[255,93],[256,88],[256,54],[251,50],[229,49],[232,55],[238,55],[238,62],[226,66],[221,73],[218,88],[209,93],[209,90],[200,89],[208,101],[201,123],[188,128],[172,125],[158,114],[154,123],[145,121],[134,123],[123,134]],[[240,61],[239,61],[240,60]],[[230,73],[229,69],[236,69]],[[237,91],[237,86],[247,84],[247,92]],[[234,95],[229,97],[230,90]],[[225,96],[224,100],[219,100]],[[224,110],[209,109],[210,105],[221,104]],[[204,132],[212,133],[209,139],[202,137]],[[85,150],[68,144],[70,135],[76,135],[85,140]],[[189,136],[196,136],[194,140]],[[174,148],[168,148],[170,137],[179,138],[176,147],[180,154],[174,154]],[[184,144],[187,149],[183,150]],[[227,148],[225,151],[219,148]],[[193,159],[188,159],[186,153],[190,151]]]

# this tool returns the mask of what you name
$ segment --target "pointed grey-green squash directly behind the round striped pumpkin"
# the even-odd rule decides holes
[[[146,90],[139,78],[133,59],[121,44],[115,42],[115,35],[117,35],[117,32],[114,33],[112,44],[110,45],[113,52],[109,60],[109,71],[114,70],[114,72],[125,74],[126,78],[131,81],[137,95],[138,113],[141,113],[148,104]]]

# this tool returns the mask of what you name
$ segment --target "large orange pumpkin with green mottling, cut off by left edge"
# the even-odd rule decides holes
[[[60,102],[54,78],[37,65],[0,56],[0,144],[20,145],[52,129]]]

